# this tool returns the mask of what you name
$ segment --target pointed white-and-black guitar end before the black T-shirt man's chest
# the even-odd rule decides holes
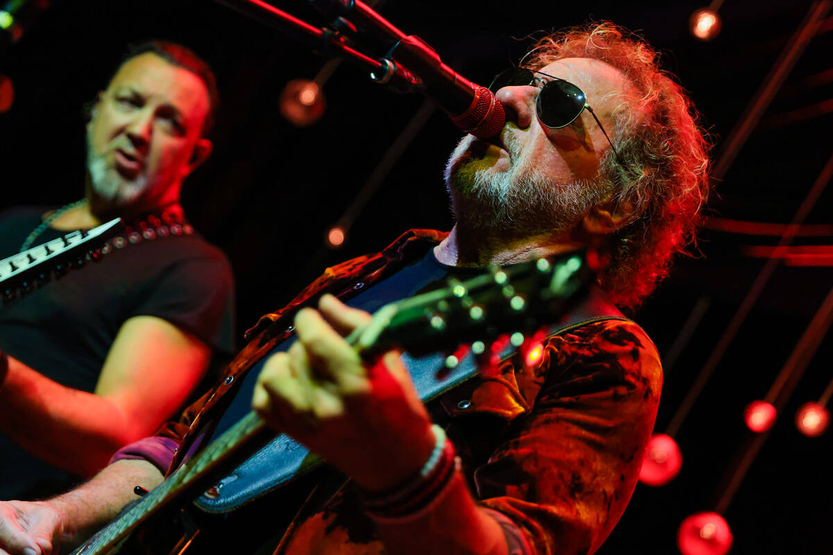
[[[116,218],[92,230],[73,231],[42,245],[33,246],[0,260],[0,295],[3,303],[25,295],[32,288],[67,270],[97,259],[97,248],[121,230],[122,220]]]

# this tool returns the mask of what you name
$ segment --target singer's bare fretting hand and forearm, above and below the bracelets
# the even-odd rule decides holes
[[[322,298],[320,310],[342,332],[369,318],[332,296]],[[254,409],[368,492],[387,490],[418,473],[435,440],[398,354],[388,353],[366,369],[312,310],[298,313],[296,330],[299,340],[290,351],[267,361]],[[458,473],[429,513],[379,528],[389,553],[507,553],[502,528],[478,507]]]

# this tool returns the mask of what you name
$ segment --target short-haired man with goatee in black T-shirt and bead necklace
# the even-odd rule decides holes
[[[99,263],[0,310],[3,498],[92,475],[182,405],[212,350],[231,352],[231,269],[179,204],[182,180],[212,150],[216,109],[213,73],[193,52],[137,47],[92,107],[84,198],[0,218],[3,256],[115,217],[127,224]]]

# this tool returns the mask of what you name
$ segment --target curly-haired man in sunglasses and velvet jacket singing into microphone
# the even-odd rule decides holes
[[[650,47],[611,24],[547,37],[526,66],[535,72],[513,72],[496,93],[508,115],[501,135],[467,136],[451,156],[450,234],[415,230],[379,255],[328,270],[262,320],[228,379],[179,423],[122,449],[82,488],[3,505],[0,543],[11,553],[48,551],[57,533],[107,522],[133,486],[155,486],[170,461],[176,466],[198,434],[188,426],[196,414],[216,417],[232,389],[227,416],[248,400],[256,374],[237,378],[251,368],[252,352],[281,344],[284,352],[265,359],[252,384],[253,406],[353,485],[325,480],[297,513],[278,492],[262,501],[268,510],[259,517],[247,515],[247,532],[215,538],[224,548],[247,553],[258,544],[250,532],[259,531],[280,540],[272,553],[595,551],[636,485],[661,389],[651,340],[604,294],[636,305],[691,237],[706,200],[706,145]],[[593,113],[552,109],[569,105],[567,92],[579,96],[573,87]],[[357,308],[488,263],[581,246],[609,260],[592,294],[601,295],[599,317],[551,336],[536,364],[506,359],[431,407],[417,398],[399,354],[362,364],[342,339],[367,321]],[[318,311],[299,310],[316,300]],[[286,340],[293,317],[294,343]]]

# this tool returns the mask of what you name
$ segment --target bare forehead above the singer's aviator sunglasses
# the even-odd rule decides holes
[[[585,92],[587,101],[594,107],[610,97],[628,92],[633,87],[631,81],[616,67],[593,58],[563,58],[541,67],[541,72],[577,85]]]

